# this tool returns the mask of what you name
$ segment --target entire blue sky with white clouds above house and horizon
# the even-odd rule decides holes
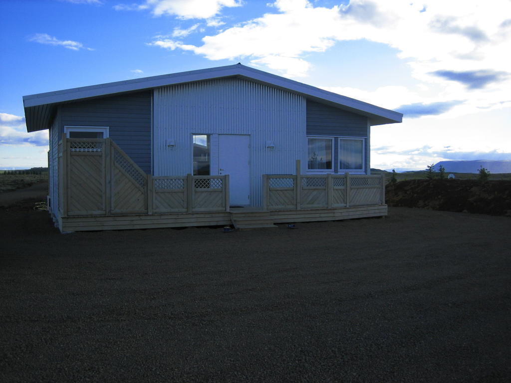
[[[2,0],[0,169],[46,166],[22,96],[241,62],[405,113],[371,166],[511,159],[511,2]]]

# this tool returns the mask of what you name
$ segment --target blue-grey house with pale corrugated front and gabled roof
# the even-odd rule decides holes
[[[115,228],[107,219],[115,214],[133,222],[133,214],[151,216],[152,222],[161,214],[174,218],[198,217],[206,211],[220,214],[218,201],[210,201],[216,207],[208,209],[205,201],[199,208],[201,201],[191,200],[205,189],[223,193],[223,216],[215,216],[213,224],[231,222],[233,206],[260,213],[282,212],[285,206],[304,210],[302,205],[347,209],[353,204],[346,200],[349,185],[341,185],[345,178],[372,179],[371,126],[402,121],[396,111],[241,64],[27,95],[23,101],[27,130],[50,132],[50,210],[62,230],[80,230],[88,222],[77,217],[95,217],[97,225],[90,225],[94,230]],[[115,148],[107,148],[110,143]],[[85,159],[79,156],[97,163],[82,163]],[[115,164],[127,180],[121,182],[115,175]],[[276,181],[276,175],[294,178]],[[335,181],[341,178],[343,182]],[[201,179],[207,182],[198,184]],[[95,183],[96,189],[90,185]],[[115,198],[121,198],[116,193],[128,184],[144,189],[143,196],[133,197],[140,205],[115,209]],[[307,202],[301,200],[302,187],[306,189],[301,192],[312,187],[326,192],[316,193],[316,201],[308,201],[313,203],[300,204]],[[346,187],[337,204],[329,187],[331,192]],[[96,193],[97,198],[77,202],[87,198],[80,197],[78,190],[83,188],[90,188],[86,194]],[[177,190],[182,193],[174,198]],[[285,197],[284,192],[292,193]],[[386,213],[381,195],[378,205],[385,206]],[[101,219],[109,226],[98,224]],[[76,224],[66,226],[69,220]],[[193,219],[191,223],[198,224]]]

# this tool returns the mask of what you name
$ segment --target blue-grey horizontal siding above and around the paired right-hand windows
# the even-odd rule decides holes
[[[334,108],[314,101],[307,101],[307,135],[328,137],[364,137],[365,173],[369,174],[369,138],[367,117]],[[334,172],[339,171],[338,139],[334,140]]]

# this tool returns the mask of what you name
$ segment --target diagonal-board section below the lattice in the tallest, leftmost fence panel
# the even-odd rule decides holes
[[[67,213],[104,213],[102,157],[69,156],[67,174]]]

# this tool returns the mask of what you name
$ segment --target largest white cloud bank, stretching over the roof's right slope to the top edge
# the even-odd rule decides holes
[[[248,59],[284,76],[304,77],[311,71],[312,53],[327,52],[339,41],[367,39],[389,45],[399,51],[399,58],[407,59],[419,82],[417,90],[340,88],[341,94],[389,108],[463,100],[444,113],[449,116],[502,108],[502,102],[510,99],[511,2],[507,0],[494,0],[491,6],[476,0],[462,6],[445,0],[351,0],[331,8],[314,4],[277,0],[272,13],[205,36],[201,45],[158,38],[151,45],[191,51],[210,60]],[[481,74],[499,76],[476,88],[470,78]]]

